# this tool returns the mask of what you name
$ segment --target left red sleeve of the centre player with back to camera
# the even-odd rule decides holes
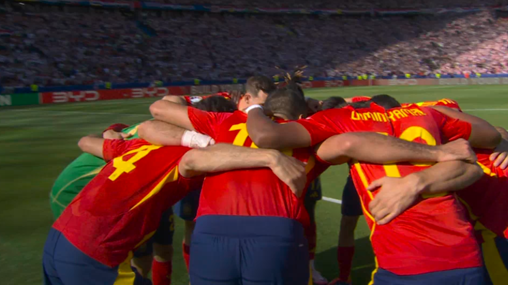
[[[217,129],[220,123],[233,113],[206,112],[193,107],[187,107],[189,120],[197,132],[207,134],[213,139],[216,138]]]

